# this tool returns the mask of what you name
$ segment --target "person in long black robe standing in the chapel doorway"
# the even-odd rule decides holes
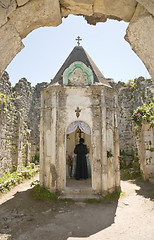
[[[88,178],[88,168],[86,154],[88,153],[87,146],[84,143],[84,139],[80,138],[80,143],[76,145],[74,153],[77,154],[77,162],[75,169],[75,178]]]

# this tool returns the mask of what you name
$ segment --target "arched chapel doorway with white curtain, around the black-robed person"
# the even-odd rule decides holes
[[[88,149],[87,168],[88,179],[75,179],[76,170],[76,154],[74,148],[79,144],[80,138],[84,139]],[[75,121],[71,123],[66,132],[66,187],[71,189],[87,189],[92,187],[91,183],[91,130],[88,124],[83,121]]]

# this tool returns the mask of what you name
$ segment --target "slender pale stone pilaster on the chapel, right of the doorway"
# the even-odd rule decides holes
[[[107,137],[106,137],[106,105],[105,105],[105,91],[101,91],[101,105],[102,105],[102,194],[106,194],[108,190],[107,183]]]

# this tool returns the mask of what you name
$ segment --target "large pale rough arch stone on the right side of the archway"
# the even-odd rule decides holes
[[[125,40],[130,43],[154,78],[154,18],[140,4],[127,28]]]

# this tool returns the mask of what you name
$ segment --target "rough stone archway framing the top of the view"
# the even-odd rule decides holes
[[[125,40],[154,77],[154,3],[152,0],[2,0],[0,1],[0,75],[24,47],[22,39],[62,17],[83,15],[89,24],[108,18],[130,22]]]

